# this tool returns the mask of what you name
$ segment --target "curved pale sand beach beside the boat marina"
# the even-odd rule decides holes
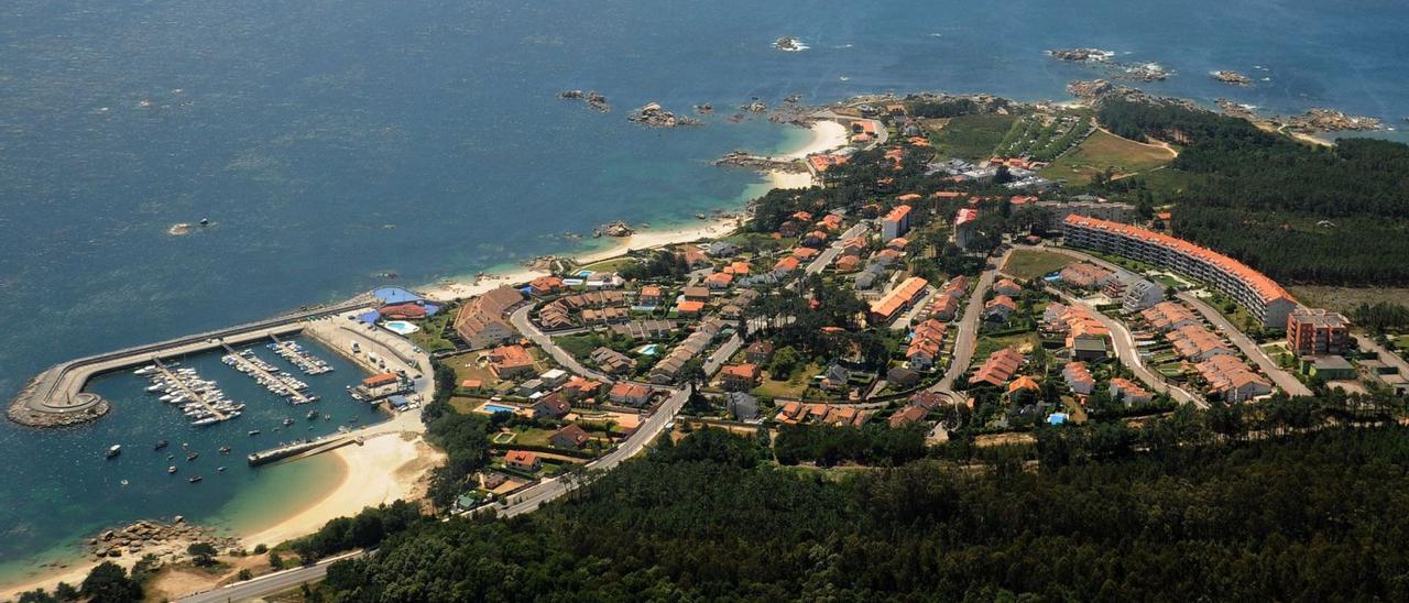
[[[413,500],[424,495],[427,471],[440,465],[442,454],[418,434],[382,434],[362,445],[351,444],[331,452],[342,466],[342,480],[323,500],[255,534],[241,537],[245,548],[273,547],[311,534],[338,517],[351,517],[365,507]],[[297,461],[296,461],[297,462]]]

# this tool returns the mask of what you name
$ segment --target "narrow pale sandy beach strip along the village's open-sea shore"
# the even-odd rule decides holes
[[[830,120],[813,121],[807,128],[812,139],[796,151],[779,155],[778,159],[803,159],[807,155],[827,152],[847,145],[847,128]],[[813,186],[812,173],[769,170],[764,176],[772,189],[806,189]],[[588,254],[575,256],[578,263],[586,265],[626,255],[630,251],[658,249],[671,245],[699,241],[703,238],[724,237],[740,227],[738,218],[717,218],[702,223],[699,227],[672,230],[644,230],[630,237],[620,237],[612,245]],[[547,276],[548,271],[521,268],[510,272],[485,275],[473,280],[444,280],[426,287],[417,287],[427,297],[451,302],[482,294],[500,285],[521,285],[540,276]]]

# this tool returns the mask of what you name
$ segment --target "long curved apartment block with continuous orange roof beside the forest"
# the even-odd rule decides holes
[[[1243,262],[1179,238],[1075,214],[1062,220],[1062,235],[1072,247],[1138,259],[1202,280],[1237,300],[1262,323],[1262,328],[1286,328],[1286,317],[1296,310],[1296,300],[1275,280]]]

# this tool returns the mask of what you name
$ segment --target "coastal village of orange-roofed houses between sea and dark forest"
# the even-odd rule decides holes
[[[596,93],[564,96],[606,110]],[[648,120],[675,118],[647,108]],[[830,132],[826,148],[721,159],[812,186],[769,192],[719,235],[559,259],[469,289],[383,287],[304,318],[300,328],[368,372],[349,394],[404,417],[337,445],[424,431],[421,409],[444,403],[488,423],[488,459],[434,511],[511,517],[702,428],[775,442],[782,464],[874,466],[955,437],[1003,447],[1050,425],[1138,424],[1185,404],[1409,390],[1402,356],[1346,316],[1174,237],[1177,209],[1069,192],[1177,154],[1116,137],[1088,107],[875,96],[816,110],[807,125]],[[613,237],[630,241],[619,225]],[[302,349],[271,348],[318,369]],[[232,349],[227,359],[302,400],[297,379]],[[913,448],[888,448],[890,438]],[[137,555],[169,534],[242,551],[176,524],[89,544],[94,558]]]

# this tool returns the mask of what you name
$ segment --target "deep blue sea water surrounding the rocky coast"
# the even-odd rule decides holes
[[[686,223],[759,190],[713,158],[799,139],[764,120],[627,123],[648,101],[728,114],[792,93],[1064,100],[1068,80],[1098,73],[1043,51],[1099,46],[1174,69],[1144,86],[1155,93],[1326,106],[1398,128],[1406,25],[1409,6],[1377,0],[8,0],[0,397],[63,358],[344,299],[382,272],[427,283],[571,252],[562,232],[614,218]],[[782,35],[810,49],[774,51]],[[1215,69],[1258,82],[1220,85]],[[614,111],[558,100],[564,89],[602,92]],[[214,225],[166,234],[203,217]],[[97,462],[114,431],[132,448],[183,438],[170,409],[118,397],[89,427],[0,424],[13,461],[0,464],[0,572],[120,520],[228,521],[245,504],[230,503],[237,490],[248,500],[292,479],[207,476],[196,496],[138,480],[151,459],[124,454],[132,472]],[[118,473],[131,485],[114,493]]]

